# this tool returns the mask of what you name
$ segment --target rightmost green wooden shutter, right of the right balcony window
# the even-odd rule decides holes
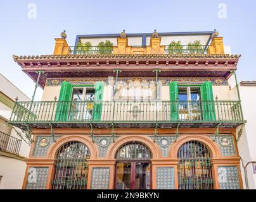
[[[214,94],[212,92],[212,83],[205,81],[201,86],[202,109],[204,121],[215,121]]]

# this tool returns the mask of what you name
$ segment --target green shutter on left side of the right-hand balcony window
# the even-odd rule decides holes
[[[177,102],[178,85],[176,81],[169,83],[169,90],[170,90],[170,121],[178,121],[178,117],[179,117],[178,102]]]

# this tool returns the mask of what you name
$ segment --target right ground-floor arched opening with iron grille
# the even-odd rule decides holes
[[[207,145],[188,141],[177,153],[179,189],[214,189],[211,156]]]

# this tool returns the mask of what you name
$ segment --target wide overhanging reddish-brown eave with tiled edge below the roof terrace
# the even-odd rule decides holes
[[[240,55],[229,54],[84,54],[13,56],[22,70],[37,80],[36,71],[43,70],[39,85],[46,78],[108,78],[113,69],[122,69],[120,77],[154,77],[153,69],[161,69],[159,77],[229,78]]]

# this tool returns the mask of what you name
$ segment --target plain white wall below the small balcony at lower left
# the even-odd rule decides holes
[[[3,166],[4,165],[4,166]],[[0,156],[0,189],[22,189],[26,163],[15,158]]]

